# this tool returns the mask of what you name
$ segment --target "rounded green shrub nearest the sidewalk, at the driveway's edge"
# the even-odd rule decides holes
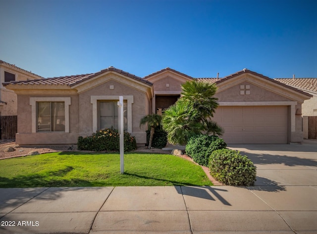
[[[225,185],[253,186],[256,181],[256,166],[238,151],[229,149],[213,151],[209,169],[211,176]]]

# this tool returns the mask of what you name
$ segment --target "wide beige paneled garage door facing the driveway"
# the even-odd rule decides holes
[[[215,120],[229,144],[287,144],[287,106],[219,106]]]

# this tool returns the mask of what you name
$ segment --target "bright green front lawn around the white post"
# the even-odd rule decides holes
[[[162,154],[50,153],[0,160],[0,188],[212,185],[203,169]]]

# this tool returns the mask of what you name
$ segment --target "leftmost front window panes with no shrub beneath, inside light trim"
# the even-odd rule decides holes
[[[64,102],[37,102],[37,131],[65,131]]]

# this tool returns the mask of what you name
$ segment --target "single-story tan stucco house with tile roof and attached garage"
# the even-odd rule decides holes
[[[166,68],[145,78],[109,67],[98,73],[11,81],[3,85],[18,95],[19,145],[76,144],[78,136],[117,125],[117,100],[123,96],[125,129],[146,143],[140,119],[161,112],[194,78]],[[286,144],[303,141],[302,103],[312,95],[244,69],[214,82],[219,107],[214,119],[227,143]]]

